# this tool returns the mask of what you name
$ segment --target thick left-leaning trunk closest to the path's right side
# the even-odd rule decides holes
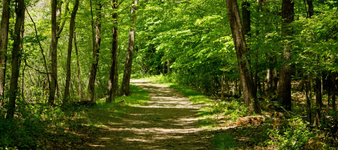
[[[245,105],[249,107],[250,114],[252,114],[254,111],[257,114],[261,114],[261,109],[259,106],[256,90],[254,87],[254,81],[252,79],[250,62],[248,60],[248,57],[246,56],[246,52],[248,52],[248,49],[244,37],[242,23],[239,16],[237,1],[226,0],[226,6],[237,54],[239,74],[242,84],[242,92]],[[253,103],[251,103],[251,100],[253,100]]]

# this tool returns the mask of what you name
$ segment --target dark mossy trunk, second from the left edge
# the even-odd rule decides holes
[[[10,85],[9,85],[9,101],[8,101],[8,109],[6,119],[10,119],[14,117],[15,112],[15,100],[17,98],[18,92],[18,79],[19,79],[19,60],[21,57],[20,54],[20,40],[21,35],[23,35],[24,28],[22,24],[24,23],[25,19],[25,6],[24,0],[17,0],[17,5],[15,9],[16,13],[16,20],[14,26],[14,42],[13,42],[13,51],[12,51],[12,62],[11,62],[11,78],[10,78]]]

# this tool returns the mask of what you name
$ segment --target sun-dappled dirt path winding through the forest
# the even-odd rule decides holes
[[[147,90],[147,104],[110,123],[93,135],[91,149],[212,149],[212,133],[199,128],[197,113],[206,104],[193,104],[168,86],[131,79]]]

